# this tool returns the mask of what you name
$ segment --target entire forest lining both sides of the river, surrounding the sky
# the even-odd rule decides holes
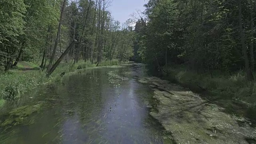
[[[112,18],[111,2],[1,0],[0,72],[24,61],[50,76],[60,63],[82,69],[132,60],[195,91],[256,101],[256,1],[149,0],[124,24]],[[2,89],[13,85],[7,81]]]

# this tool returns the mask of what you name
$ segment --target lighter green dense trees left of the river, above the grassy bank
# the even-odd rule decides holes
[[[1,0],[0,67],[40,61],[47,71],[62,61],[127,61],[134,32],[107,10],[110,0]],[[74,46],[72,46],[73,40]],[[69,46],[69,47],[68,47]],[[66,56],[64,50],[67,50]]]

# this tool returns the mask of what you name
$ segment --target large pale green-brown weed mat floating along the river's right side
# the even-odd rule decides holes
[[[150,84],[156,110],[150,115],[172,132],[178,144],[256,144],[256,129],[226,114],[224,108],[167,80],[150,77],[139,80]]]

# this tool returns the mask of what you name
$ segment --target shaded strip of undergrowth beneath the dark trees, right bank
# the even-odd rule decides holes
[[[197,74],[182,67],[165,67],[166,77],[188,87],[208,90],[222,99],[239,100],[248,105],[256,103],[256,82],[248,82],[245,72],[240,70],[233,74],[214,73]]]

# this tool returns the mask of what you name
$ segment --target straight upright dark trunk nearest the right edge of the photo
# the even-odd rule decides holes
[[[254,12],[251,12],[250,14],[250,35],[251,35],[251,42],[250,42],[250,56],[251,56],[251,70],[252,72],[254,72],[254,67],[255,67],[255,62],[254,62],[254,42],[253,42],[253,38],[254,38],[254,33],[253,33],[253,28],[254,28],[254,23],[253,23],[253,19],[254,19]]]

